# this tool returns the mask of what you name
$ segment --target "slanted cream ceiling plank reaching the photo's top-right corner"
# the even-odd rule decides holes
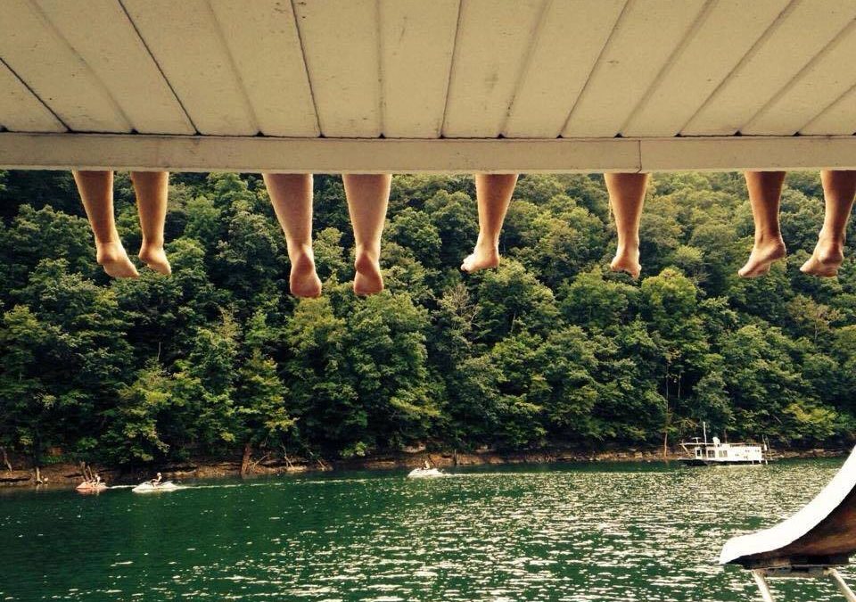
[[[739,131],[854,18],[856,0],[795,0],[681,133]]]

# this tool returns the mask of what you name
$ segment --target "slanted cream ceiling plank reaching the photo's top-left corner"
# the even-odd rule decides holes
[[[70,128],[130,131],[128,119],[103,82],[37,5],[27,0],[0,2],[0,57]]]

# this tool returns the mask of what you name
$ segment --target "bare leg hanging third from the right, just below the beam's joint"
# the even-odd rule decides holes
[[[639,221],[642,219],[648,174],[607,173],[604,179],[618,234],[618,249],[609,268],[638,278],[642,271],[639,264]]]

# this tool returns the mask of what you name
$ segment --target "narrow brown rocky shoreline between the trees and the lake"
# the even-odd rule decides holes
[[[842,458],[850,449],[798,449],[774,452],[772,459]],[[666,461],[677,461],[685,455],[672,449]],[[541,449],[536,451],[436,451],[394,452],[375,454],[365,458],[350,458],[334,461],[309,458],[259,458],[250,460],[249,470],[242,473],[247,463],[239,455],[225,458],[194,458],[186,462],[173,462],[151,468],[128,469],[93,465],[92,470],[101,474],[109,484],[136,484],[161,472],[165,480],[217,479],[281,474],[304,474],[336,472],[342,470],[403,470],[422,466],[428,460],[438,468],[457,466],[504,466],[515,464],[561,464],[561,463],[608,463],[608,462],[661,462],[663,449],[618,449],[580,451],[571,449]],[[18,466],[21,466],[21,462]],[[50,488],[73,489],[83,479],[79,464],[58,462],[39,467],[42,483],[37,482],[35,467],[17,470],[0,470],[0,488]]]

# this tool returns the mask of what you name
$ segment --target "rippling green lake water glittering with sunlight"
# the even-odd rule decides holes
[[[756,600],[748,573],[716,565],[722,542],[791,514],[841,464],[0,491],[0,600]],[[774,588],[838,599],[827,582]]]

